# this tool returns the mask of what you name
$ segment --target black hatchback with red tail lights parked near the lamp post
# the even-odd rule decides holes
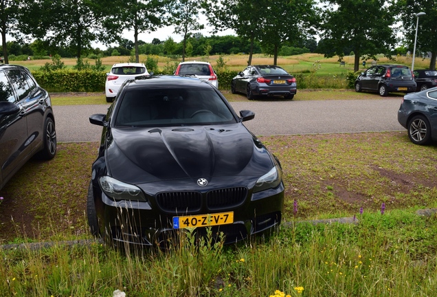
[[[381,96],[389,92],[416,91],[414,76],[404,65],[377,65],[361,72],[355,80],[355,91],[377,91]]]

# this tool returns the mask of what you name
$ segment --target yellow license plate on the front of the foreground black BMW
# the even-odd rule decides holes
[[[229,223],[234,223],[234,212],[173,217],[173,228],[175,229],[208,227],[212,225],[226,225]]]

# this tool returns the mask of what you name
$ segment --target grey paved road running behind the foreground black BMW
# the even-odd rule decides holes
[[[403,131],[397,120],[401,98],[381,100],[232,102],[238,112],[250,109],[255,119],[245,122],[256,135]],[[106,113],[109,105],[55,106],[58,142],[100,141],[102,127],[89,115]]]

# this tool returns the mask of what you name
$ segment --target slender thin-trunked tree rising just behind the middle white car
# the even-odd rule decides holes
[[[179,0],[172,11],[171,22],[175,24],[175,33],[182,34],[182,62],[185,61],[187,39],[191,32],[202,30],[203,25],[199,23],[199,10],[201,1]]]

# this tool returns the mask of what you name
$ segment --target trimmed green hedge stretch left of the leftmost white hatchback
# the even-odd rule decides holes
[[[104,91],[106,72],[95,69],[59,69],[32,72],[39,85],[47,91]]]

